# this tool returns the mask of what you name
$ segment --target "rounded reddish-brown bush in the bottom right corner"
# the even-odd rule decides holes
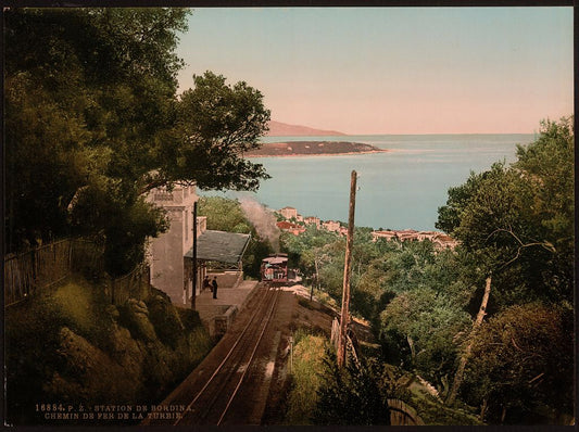
[[[572,415],[572,313],[538,303],[512,306],[473,339],[464,393],[493,423],[517,422],[541,405]]]

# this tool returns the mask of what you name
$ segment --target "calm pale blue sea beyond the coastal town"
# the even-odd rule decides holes
[[[200,191],[255,200],[279,209],[295,207],[303,216],[348,220],[351,171],[357,173],[355,225],[374,229],[435,230],[438,208],[448,190],[470,173],[488,170],[495,162],[516,161],[517,144],[529,135],[372,135],[331,137],[265,137],[263,142],[351,141],[389,152],[336,156],[259,157],[270,179],[256,192]]]

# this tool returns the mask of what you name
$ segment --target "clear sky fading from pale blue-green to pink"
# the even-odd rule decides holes
[[[198,8],[177,54],[349,135],[533,134],[574,112],[572,8]]]

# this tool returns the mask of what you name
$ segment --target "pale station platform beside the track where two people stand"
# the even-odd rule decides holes
[[[201,291],[196,297],[196,310],[210,334],[221,336],[227,331],[237,314],[247,305],[259,282],[237,280],[231,284],[218,274],[210,276],[212,280],[213,276],[217,276],[217,298],[213,298],[210,290]]]

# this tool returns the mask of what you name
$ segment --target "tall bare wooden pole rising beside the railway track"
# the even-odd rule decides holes
[[[343,268],[342,312],[340,317],[340,338],[338,340],[338,366],[345,364],[345,332],[350,316],[350,274],[352,264],[352,245],[354,244],[354,213],[356,207],[356,171],[352,170],[350,181],[350,213],[348,217],[348,236],[345,240],[345,263]]]

